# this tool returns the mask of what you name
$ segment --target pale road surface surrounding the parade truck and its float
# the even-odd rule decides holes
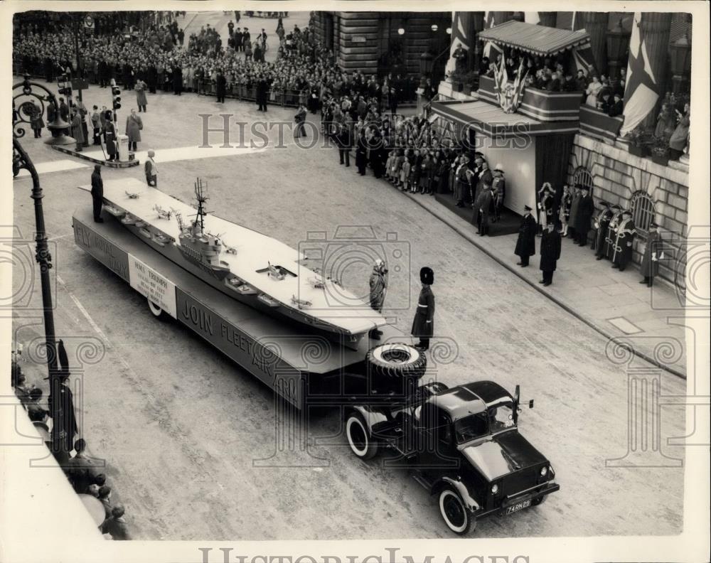
[[[131,96],[124,94],[126,100]],[[97,102],[109,102],[109,92],[92,87],[85,103]],[[683,406],[652,412],[654,401],[628,392],[633,368],[649,371],[651,365],[641,358],[621,363],[599,331],[513,275],[447,222],[372,176],[358,176],[353,165],[339,166],[335,149],[299,148],[288,128],[282,148],[274,146],[273,128],[267,150],[258,150],[260,136],[250,133],[255,149],[238,156],[161,162],[161,151],[202,150],[200,114],[215,114],[210,127],[222,122],[217,114],[225,113],[232,114],[232,123],[268,117],[290,125],[293,109],[269,107],[265,115],[255,104],[217,104],[192,94],[179,99],[149,95],[148,102],[148,113],[141,114],[139,151],[156,150],[159,188],[189,200],[200,176],[208,181],[211,210],[293,247],[309,232],[333,237],[345,225],[356,234],[372,227],[386,250],[395,235],[410,268],[399,276],[393,273],[385,313],[397,328],[409,331],[419,268],[432,267],[435,341],[454,350],[449,358],[429,358],[429,376],[449,386],[491,379],[513,391],[520,384],[523,398],[535,399],[535,408],[521,414],[520,431],[550,459],[561,490],[540,507],[479,522],[476,537],[669,535],[682,530],[685,451],[668,439],[686,434]],[[121,131],[129,105],[119,113]],[[309,114],[309,121],[316,122],[316,116]],[[233,133],[236,144],[236,127]],[[41,141],[22,141],[36,163],[67,159]],[[213,146],[222,142],[222,134],[210,134]],[[103,350],[82,372],[75,370],[73,380],[82,382],[75,397],[82,436],[94,456],[107,459],[105,472],[115,498],[127,507],[134,537],[451,537],[437,502],[406,471],[388,468],[382,459],[365,463],[352,456],[338,435],[338,413],[311,413],[308,422],[296,424],[296,448],[277,449],[283,409],[267,387],[186,329],[156,321],[137,292],[75,247],[71,215],[77,206],[91,205],[75,186],[89,183],[90,171],[41,175],[48,236],[55,245],[55,323],[70,353],[84,341],[99,343]],[[142,180],[143,167],[105,169],[102,176]],[[15,225],[31,240],[31,181],[16,178],[13,187]],[[18,299],[27,301],[14,311],[15,335],[23,342],[43,334],[41,295],[31,277],[33,253],[27,252],[27,267],[14,269]],[[564,258],[568,252],[566,246]],[[341,279],[356,294],[365,294],[370,264],[350,264]],[[561,274],[552,289],[564,284]],[[41,364],[29,361],[24,369],[30,382],[46,385]],[[659,370],[655,377],[661,397],[685,394],[680,377]],[[629,403],[641,410],[632,412]],[[658,433],[643,434],[650,440],[656,436],[658,444],[649,441],[641,448],[636,441],[641,436],[629,436],[635,413],[658,422]],[[309,446],[301,449],[304,436]],[[632,447],[636,451],[628,455]]]

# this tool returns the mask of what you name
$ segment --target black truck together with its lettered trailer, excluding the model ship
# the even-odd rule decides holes
[[[380,341],[338,345],[223,292],[154,252],[115,218],[73,215],[75,244],[146,299],[160,321],[186,326],[296,409],[337,407],[353,454],[391,449],[438,495],[445,524],[464,535],[493,513],[539,505],[559,489],[547,459],[518,433],[519,390],[491,381],[421,385],[427,357],[382,326]],[[529,407],[533,407],[530,402]]]

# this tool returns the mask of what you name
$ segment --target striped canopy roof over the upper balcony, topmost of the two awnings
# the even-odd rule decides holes
[[[550,28],[515,20],[480,31],[479,39],[536,55],[557,55],[568,49],[587,46],[590,42],[587,31]]]

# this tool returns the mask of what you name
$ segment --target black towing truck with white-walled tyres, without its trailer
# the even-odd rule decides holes
[[[361,459],[394,450],[439,495],[447,527],[464,535],[479,518],[540,505],[560,488],[550,462],[518,431],[519,403],[518,386],[512,396],[493,381],[429,383],[402,404],[351,407],[346,436]]]

